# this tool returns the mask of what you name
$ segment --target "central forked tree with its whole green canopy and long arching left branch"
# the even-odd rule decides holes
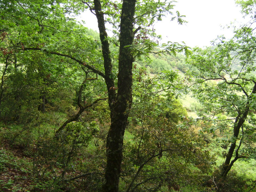
[[[156,41],[150,40],[150,37],[156,36],[150,26],[156,20],[161,20],[166,13],[172,14],[172,3],[167,0],[124,0],[122,3],[100,0],[31,3],[20,0],[1,3],[8,18],[3,22],[1,29],[4,38],[8,37],[8,42],[1,44],[3,54],[9,50],[15,54],[40,51],[46,56],[54,57],[55,61],[59,60],[59,64],[78,64],[81,68],[87,68],[92,78],[99,76],[99,80],[104,79],[111,125],[106,143],[107,166],[103,191],[118,190],[123,136],[132,105],[132,63],[140,59],[140,55],[151,52],[153,47],[157,46]],[[67,17],[69,13],[83,11],[84,5],[97,17],[102,55],[99,55],[97,40],[86,36],[86,29]],[[184,22],[183,16],[179,12],[176,13],[177,16],[172,20],[176,18],[181,24]],[[106,22],[113,24],[113,38],[107,34]],[[135,38],[136,34],[138,35]],[[117,55],[112,55],[110,43],[119,47]],[[161,52],[175,53],[182,50],[188,52],[186,46],[170,42],[165,44]],[[22,57],[20,59],[22,60]]]

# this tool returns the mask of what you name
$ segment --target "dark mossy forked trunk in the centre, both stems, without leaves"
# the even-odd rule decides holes
[[[108,88],[108,104],[110,107],[111,125],[108,131],[106,152],[107,165],[103,192],[117,192],[121,163],[123,159],[124,130],[127,127],[129,109],[132,104],[132,62],[133,55],[129,45],[132,44],[133,18],[136,0],[123,0],[120,23],[119,73],[117,88],[114,85],[112,61],[110,59],[109,43],[105,28],[104,15],[99,0],[94,0],[95,14],[98,20],[102,54],[104,58],[105,81]],[[117,90],[117,93],[116,93]]]

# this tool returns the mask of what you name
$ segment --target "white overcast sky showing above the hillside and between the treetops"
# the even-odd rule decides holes
[[[190,47],[210,46],[218,35],[232,36],[232,29],[223,27],[235,20],[243,20],[235,0],[178,0],[176,10],[186,15],[188,23],[178,25],[176,21],[170,21],[171,16],[156,23],[154,28],[158,35],[162,35],[163,43],[184,41]],[[84,13],[81,19],[86,27],[98,31],[97,20],[92,13]]]

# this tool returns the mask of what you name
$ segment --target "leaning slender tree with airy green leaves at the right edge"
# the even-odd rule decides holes
[[[255,5],[252,1],[240,3],[244,10],[247,10],[246,7],[251,11],[253,9],[249,4]],[[228,136],[230,147],[220,168],[221,177],[228,174],[236,160],[250,156],[248,150],[246,153],[241,149],[249,147],[247,138],[251,138],[250,135],[256,131],[254,14],[249,25],[234,30],[233,38],[226,41],[220,37],[212,47],[204,50],[195,48],[195,53],[188,60],[200,71],[196,75],[193,91],[206,107],[201,117],[214,123],[209,131],[227,131],[232,127],[232,134]],[[220,117],[221,114],[225,114],[226,118]]]

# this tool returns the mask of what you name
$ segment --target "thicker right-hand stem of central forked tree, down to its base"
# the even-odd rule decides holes
[[[132,44],[134,38],[133,18],[135,3],[136,0],[123,0],[119,37],[118,92],[115,102],[110,107],[111,125],[106,143],[107,165],[105,168],[105,182],[102,186],[103,192],[118,191],[123,159],[124,130],[128,124],[127,119],[132,104],[133,55],[129,45]]]

